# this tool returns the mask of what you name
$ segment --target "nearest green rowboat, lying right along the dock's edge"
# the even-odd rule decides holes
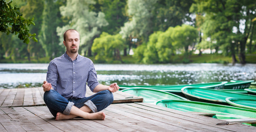
[[[188,112],[216,114],[213,118],[217,119],[256,118],[256,110],[213,103],[163,99],[156,102],[156,105]]]

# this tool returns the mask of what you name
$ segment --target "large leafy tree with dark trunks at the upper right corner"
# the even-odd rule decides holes
[[[223,51],[230,51],[233,63],[239,50],[240,63],[244,64],[246,43],[254,25],[255,7],[254,0],[195,0],[191,11],[205,15],[202,24],[204,35],[215,40]]]

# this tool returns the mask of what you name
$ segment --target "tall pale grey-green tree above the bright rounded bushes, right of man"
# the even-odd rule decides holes
[[[154,4],[157,0],[128,0],[128,22],[121,27],[120,34],[123,38],[141,37],[147,42],[148,37],[153,33],[153,14]]]

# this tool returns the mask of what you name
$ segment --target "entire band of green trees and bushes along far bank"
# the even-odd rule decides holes
[[[65,51],[66,29],[78,30],[79,54],[95,63],[256,63],[255,0],[0,0],[0,4],[2,63],[50,62]],[[12,15],[7,13],[10,7]],[[14,18],[20,23],[10,21]],[[202,54],[206,49],[210,55]]]

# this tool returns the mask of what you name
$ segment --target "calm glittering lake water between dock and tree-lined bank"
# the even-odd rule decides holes
[[[48,64],[0,64],[0,88],[38,87]],[[230,80],[256,81],[256,64],[95,64],[101,84],[167,85]]]

